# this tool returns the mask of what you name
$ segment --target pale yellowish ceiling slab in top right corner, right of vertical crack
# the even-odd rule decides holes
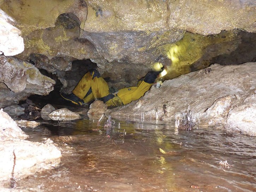
[[[256,2],[234,1],[170,1],[169,28],[209,35],[221,30],[244,29],[256,32]]]

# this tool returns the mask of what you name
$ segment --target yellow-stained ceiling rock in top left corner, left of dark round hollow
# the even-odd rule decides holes
[[[53,27],[55,19],[73,3],[70,0],[13,0],[0,1],[0,8],[18,22],[16,27],[23,35],[28,35],[36,29]]]

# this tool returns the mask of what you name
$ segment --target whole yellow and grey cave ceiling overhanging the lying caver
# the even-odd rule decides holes
[[[256,60],[255,0],[0,0],[0,8],[24,41],[15,56],[62,83],[75,60],[93,61],[119,86],[157,62],[171,79]]]

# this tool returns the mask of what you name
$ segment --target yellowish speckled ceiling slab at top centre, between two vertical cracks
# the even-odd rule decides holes
[[[89,0],[84,30],[112,32],[167,29],[167,3],[161,1]]]

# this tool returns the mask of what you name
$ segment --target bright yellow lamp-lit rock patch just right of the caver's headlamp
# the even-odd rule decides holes
[[[206,48],[212,44],[229,42],[236,39],[237,31],[225,32],[225,35],[203,36],[186,32],[184,37],[173,44],[165,45],[165,52],[171,60],[168,74],[165,78],[172,79],[181,74],[191,72],[191,64],[200,59]]]

